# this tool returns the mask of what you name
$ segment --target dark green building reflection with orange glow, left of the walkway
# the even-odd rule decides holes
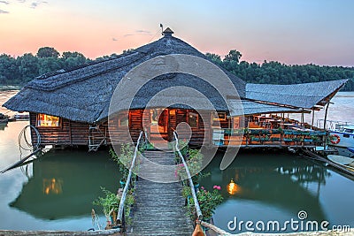
[[[50,151],[33,163],[33,177],[10,205],[43,219],[89,216],[100,187],[116,191],[119,171],[108,151]]]

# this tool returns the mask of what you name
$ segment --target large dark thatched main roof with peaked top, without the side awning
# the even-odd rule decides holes
[[[38,77],[22,88],[18,95],[4,103],[4,106],[10,110],[46,113],[74,121],[94,123],[107,118],[112,93],[127,72],[151,58],[169,54],[185,54],[208,59],[188,43],[172,36],[165,36],[127,55],[96,62],[69,72],[60,71]],[[222,70],[234,83],[239,95],[244,96],[245,82]],[[219,110],[227,110],[225,103],[215,91],[212,91],[212,86],[181,73],[166,75],[165,80],[151,80],[142,88],[144,92],[138,95],[141,99],[135,99],[132,108],[144,108],[152,91],[181,84],[203,92]],[[122,95],[122,99],[124,97],[125,95]]]

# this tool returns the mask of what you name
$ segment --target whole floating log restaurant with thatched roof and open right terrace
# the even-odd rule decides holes
[[[118,57],[37,77],[4,103],[4,107],[30,113],[30,124],[40,133],[42,146],[86,145],[90,150],[96,150],[111,145],[108,130],[110,101],[114,89],[127,72],[152,58],[172,54],[200,57],[212,63],[203,53],[174,37],[170,28],[163,34],[158,41]],[[238,103],[240,99],[231,95],[228,101],[222,100],[218,91],[206,81],[191,74],[172,72],[146,83],[129,110],[120,110],[122,115],[110,122],[117,124],[117,133],[128,129],[134,141],[144,130],[151,143],[158,137],[172,141],[173,131],[185,122],[192,132],[189,144],[195,146],[241,144],[244,148],[281,148],[325,145],[325,130],[313,126],[313,121],[305,124],[303,115],[300,121],[296,121],[287,118],[286,114],[312,113],[314,117],[314,112],[327,109],[330,100],[347,80],[293,85],[251,84],[220,69],[235,86],[242,108]],[[194,110],[179,103],[167,108],[147,107],[153,95],[176,86],[201,92],[211,101],[216,112]],[[124,94],[121,99],[125,99]],[[35,131],[32,141],[37,141]]]

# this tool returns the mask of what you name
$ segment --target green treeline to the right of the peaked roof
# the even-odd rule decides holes
[[[212,53],[206,53],[206,56],[248,83],[297,84],[351,79],[342,91],[354,91],[354,67],[284,65],[274,61],[264,61],[262,64],[249,63],[240,60],[242,54],[237,50],[230,50],[224,59]]]

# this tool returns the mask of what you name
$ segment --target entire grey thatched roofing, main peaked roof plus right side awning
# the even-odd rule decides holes
[[[203,53],[188,43],[173,37],[172,31],[167,33],[160,40],[144,45],[130,53],[96,61],[71,71],[60,70],[35,78],[35,80],[30,81],[27,86],[22,88],[18,95],[15,95],[12,99],[4,103],[4,106],[10,110],[46,113],[87,123],[105,120],[108,117],[114,89],[127,72],[131,71],[135,66],[142,65],[152,58],[171,54],[201,57],[210,61]],[[197,65],[193,64],[189,66],[193,67]],[[223,68],[220,69],[227,74],[229,80],[234,84],[238,95],[249,100],[248,102],[243,101],[245,106],[243,110],[244,114],[281,111],[296,112],[298,108],[312,108],[316,104],[323,105],[346,82],[346,80],[335,80],[311,84],[247,84],[246,86],[244,81],[235,77],[232,73],[227,72]],[[156,95],[165,88],[176,86],[195,89],[206,96],[216,110],[228,111],[230,106],[234,106],[230,110],[234,110],[235,112],[232,111],[231,113],[236,114],[241,112],[240,107],[236,106],[236,103],[229,103],[228,100],[224,101],[217,89],[213,88],[205,80],[199,79],[195,75],[181,72],[164,74],[150,80],[139,90],[129,108],[143,109],[153,95]],[[225,88],[225,90],[228,89],[222,83],[221,87]],[[124,91],[119,95],[119,100],[116,101],[130,104],[128,103],[127,94],[128,92]],[[228,95],[230,95],[229,92]],[[234,96],[237,97],[234,94],[230,95],[232,98]],[[184,102],[190,100],[195,102],[196,109],[204,110],[208,107],[200,95],[190,93],[188,95],[184,95],[183,93],[173,95],[170,93],[165,95],[163,103],[165,104],[166,101],[170,101],[171,103],[176,101],[175,104],[169,107],[190,108],[187,105],[183,105]],[[250,101],[264,101],[272,104],[251,103]],[[277,106],[276,103],[280,106]],[[157,102],[155,106],[158,107],[158,105],[164,104]],[[227,107],[227,104],[229,107]],[[282,106],[284,104],[288,105],[288,107]]]

